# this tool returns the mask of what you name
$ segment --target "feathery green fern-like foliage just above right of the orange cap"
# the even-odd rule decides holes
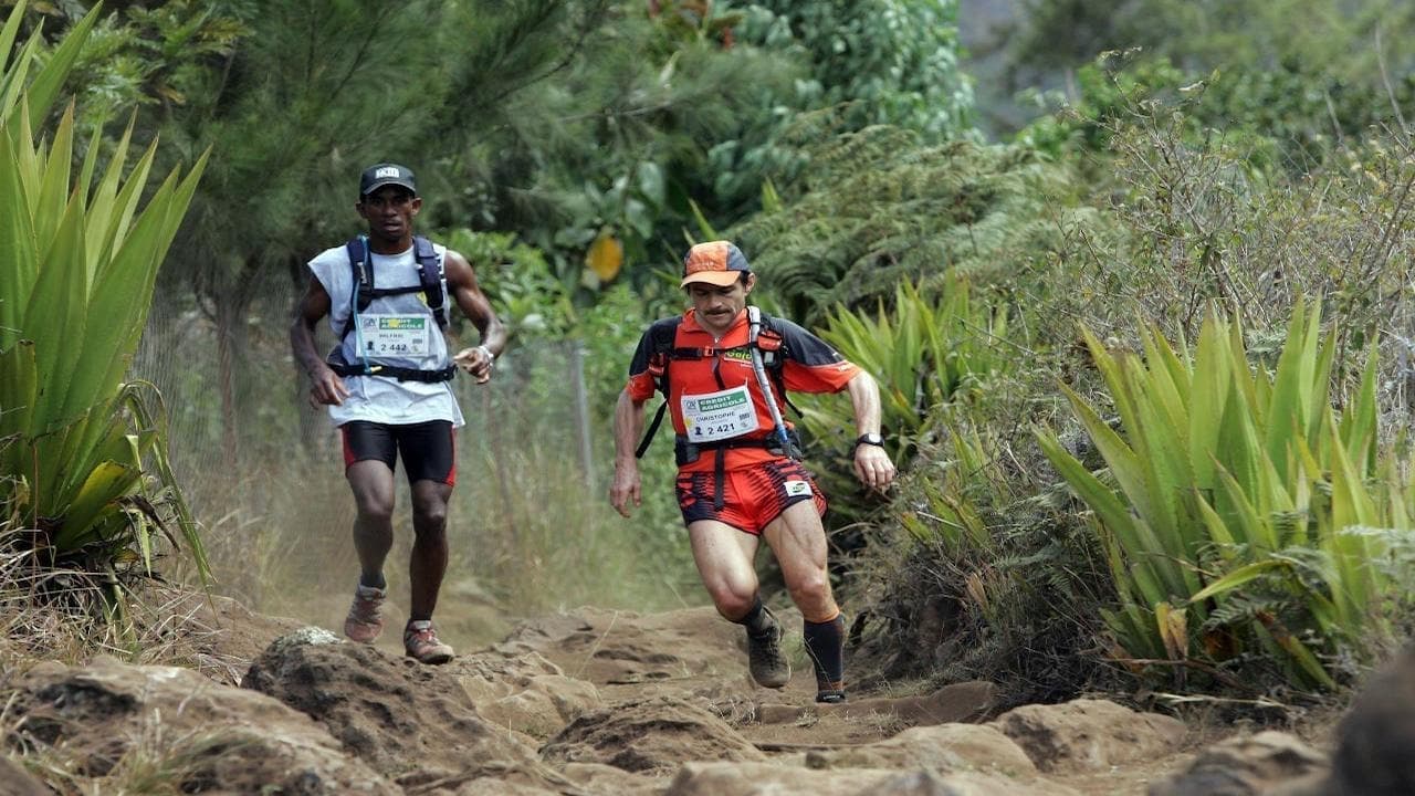
[[[802,125],[802,136],[818,135]],[[1060,245],[1070,211],[1049,205],[1064,171],[1012,146],[874,126],[831,137],[784,204],[732,229],[764,286],[805,323],[835,306],[887,305],[900,282],[935,292],[951,269],[993,283]]]

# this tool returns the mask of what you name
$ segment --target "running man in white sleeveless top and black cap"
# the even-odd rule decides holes
[[[422,204],[406,167],[379,163],[364,170],[355,210],[368,234],[310,261],[290,347],[313,382],[310,402],[327,405],[340,429],[358,508],[354,547],[362,571],[344,633],[374,643],[383,629],[383,561],[393,545],[393,470],[402,457],[416,535],[403,649],[436,664],[453,657],[432,623],[447,569],[447,499],[457,480],[453,442],[463,425],[449,380],[461,367],[477,384],[490,381],[507,336],[467,259],[413,235]],[[456,356],[449,356],[441,333],[450,302],[481,333],[481,344]],[[328,360],[314,346],[314,327],[325,316],[338,340]]]

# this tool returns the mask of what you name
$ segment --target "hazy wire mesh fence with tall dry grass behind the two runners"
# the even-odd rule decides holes
[[[239,344],[224,363],[214,317],[160,300],[132,373],[164,395],[174,467],[202,523],[218,589],[263,610],[323,610],[311,620],[328,623],[337,601],[310,595],[342,599],[351,589],[354,501],[338,432],[324,408],[308,405],[308,382],[289,353],[289,305],[282,296],[256,302],[228,331]],[[633,520],[608,506],[613,397],[591,395],[587,374],[623,367],[593,361],[576,341],[538,343],[505,351],[487,385],[464,374],[453,381],[467,418],[449,506],[453,592],[525,613],[579,603],[665,608],[685,593],[700,602],[691,596],[695,574],[671,504],[669,463],[647,465],[645,506]],[[412,521],[400,473],[395,483],[386,574],[398,589]]]

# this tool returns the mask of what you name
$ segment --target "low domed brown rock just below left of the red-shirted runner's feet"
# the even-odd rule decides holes
[[[760,762],[766,756],[706,710],[671,697],[621,703],[574,720],[541,755],[630,772],[669,772],[683,761]]]

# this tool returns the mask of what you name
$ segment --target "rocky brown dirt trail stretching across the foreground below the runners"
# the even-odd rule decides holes
[[[821,708],[805,667],[782,691],[754,687],[740,630],[706,608],[580,609],[423,667],[218,606],[208,660],[224,666],[205,674],[10,673],[11,742],[88,776],[164,758],[187,793],[1319,793],[1326,766],[1275,732],[1200,749],[1177,721],[1107,701],[993,715],[985,683]],[[27,779],[0,769],[0,793]]]

